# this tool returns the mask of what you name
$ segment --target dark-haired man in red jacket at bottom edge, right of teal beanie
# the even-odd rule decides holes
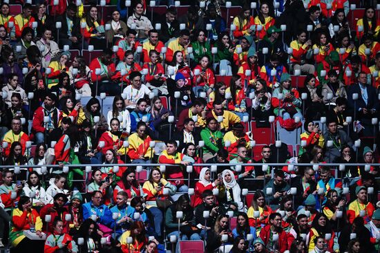
[[[287,250],[287,234],[281,227],[281,214],[272,213],[269,216],[269,224],[265,225],[260,231],[260,238],[268,249],[274,252],[285,252]],[[274,234],[278,235],[278,241],[273,240]]]

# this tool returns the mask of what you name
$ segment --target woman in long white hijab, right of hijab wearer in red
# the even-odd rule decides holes
[[[240,198],[241,189],[236,182],[234,172],[230,169],[225,169],[222,172],[223,184],[219,187],[220,203],[225,205],[226,209],[231,209],[234,212],[245,212],[243,201]]]

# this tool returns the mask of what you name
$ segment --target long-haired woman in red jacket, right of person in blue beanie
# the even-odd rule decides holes
[[[213,91],[215,84],[215,75],[210,68],[210,58],[207,55],[200,58],[199,64],[193,70],[194,73],[196,69],[199,70],[200,74],[193,77],[193,83],[195,84],[195,87],[193,87],[194,94],[198,97],[198,92],[203,89],[209,95]]]

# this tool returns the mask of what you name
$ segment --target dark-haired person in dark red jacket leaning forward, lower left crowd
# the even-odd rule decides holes
[[[55,194],[53,200],[53,204],[48,204],[42,207],[41,211],[39,212],[42,221],[44,221],[44,228],[46,227],[45,216],[50,215],[52,221],[54,221],[56,218],[64,221],[64,233],[68,233],[68,222],[65,219],[65,215],[69,214],[69,212],[67,207],[64,206],[68,198],[65,194],[59,193]],[[46,232],[53,233],[53,231],[53,223],[48,223],[48,231]]]

